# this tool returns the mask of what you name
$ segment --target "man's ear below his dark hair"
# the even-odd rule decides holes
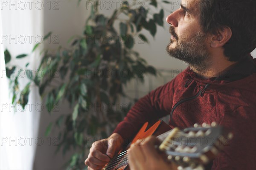
[[[218,30],[217,34],[210,36],[210,46],[212,48],[218,48],[225,45],[232,36],[232,31],[229,27],[224,27],[222,30]]]

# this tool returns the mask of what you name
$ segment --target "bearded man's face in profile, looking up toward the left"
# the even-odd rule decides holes
[[[182,0],[180,8],[166,18],[171,24],[171,40],[166,51],[198,71],[209,65],[207,40],[199,23],[199,1]]]

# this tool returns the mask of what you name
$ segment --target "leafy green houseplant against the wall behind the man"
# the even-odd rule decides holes
[[[147,65],[145,59],[132,48],[134,36],[148,42],[140,31],[146,29],[154,37],[156,25],[163,26],[163,9],[148,17],[149,9],[143,6],[132,8],[134,2],[129,4],[128,1],[122,1],[122,7],[108,18],[99,13],[98,0],[94,2],[83,35],[73,37],[69,49],[60,47],[54,53],[44,50],[38,68],[43,74],[38,76],[26,69],[29,82],[24,89],[19,89],[19,73],[17,77],[12,76],[16,66],[6,68],[7,77],[11,79],[12,103],[20,103],[24,108],[28,102],[30,86],[35,84],[39,87],[39,94],[45,100],[49,113],[64,99],[70,104],[72,112],[62,114],[51,122],[45,133],[46,136],[49,135],[52,126],[64,125],[64,129],[59,132],[58,150],[62,148],[63,154],[71,147],[76,150],[67,163],[68,169],[84,168],[85,154],[90,147],[85,136],[106,138],[125,116],[134,101],[124,93],[124,85],[134,78],[143,81],[146,73],[157,74],[155,68]],[[162,2],[169,3],[164,0]],[[157,7],[157,4],[159,2],[151,0],[145,5]],[[120,20],[120,14],[125,14],[126,19]],[[119,31],[113,27],[115,22],[119,22]],[[44,39],[50,35],[51,33],[47,34]],[[116,35],[120,38],[110,42],[109,37]],[[16,58],[26,56],[22,54]],[[8,50],[5,51],[5,59],[6,64],[11,60]],[[26,67],[28,65],[29,63]],[[120,97],[130,100],[125,110],[114,109]],[[95,109],[94,106],[108,109]]]

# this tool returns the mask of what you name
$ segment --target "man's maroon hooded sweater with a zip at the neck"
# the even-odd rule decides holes
[[[170,127],[217,122],[234,137],[212,169],[256,169],[256,59],[246,57],[203,79],[189,68],[141,98],[113,133],[132,139],[145,122],[170,115]],[[209,73],[211,74],[211,73]]]

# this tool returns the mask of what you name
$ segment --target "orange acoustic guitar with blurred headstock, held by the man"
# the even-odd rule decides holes
[[[211,125],[195,124],[194,127],[180,130],[177,127],[171,129],[169,125],[159,120],[151,127],[148,122],[145,123],[131,144],[151,135],[157,136],[162,141],[156,149],[166,154],[166,160],[177,164],[178,170],[204,170],[233,136],[215,122]],[[103,168],[103,170],[128,169],[127,150],[116,155]]]

